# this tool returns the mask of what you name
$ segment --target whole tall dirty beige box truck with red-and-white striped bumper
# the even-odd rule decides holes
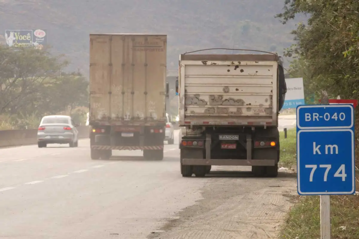
[[[163,159],[167,35],[90,34],[92,159],[143,150]]]

